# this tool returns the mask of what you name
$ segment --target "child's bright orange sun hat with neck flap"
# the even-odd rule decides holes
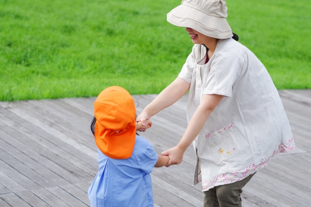
[[[113,159],[132,156],[136,138],[134,99],[119,86],[102,91],[94,102],[95,143]]]

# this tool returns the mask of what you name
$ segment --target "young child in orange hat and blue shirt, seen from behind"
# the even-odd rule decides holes
[[[106,88],[94,103],[91,130],[98,147],[99,172],[88,189],[91,207],[153,207],[151,176],[154,167],[168,163],[136,134],[149,128],[136,122],[134,100],[123,88]]]

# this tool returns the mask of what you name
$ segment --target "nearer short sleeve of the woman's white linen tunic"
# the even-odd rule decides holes
[[[242,52],[220,54],[212,62],[203,94],[232,96],[232,87],[239,78],[244,58]]]

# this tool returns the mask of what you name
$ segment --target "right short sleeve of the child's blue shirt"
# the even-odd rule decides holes
[[[146,174],[151,174],[157,159],[158,155],[156,154],[154,147],[151,143],[147,142],[146,151],[140,159],[140,169]]]

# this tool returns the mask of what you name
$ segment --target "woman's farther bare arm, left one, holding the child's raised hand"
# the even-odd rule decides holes
[[[157,112],[171,106],[190,88],[190,83],[177,77],[168,87],[166,87],[146,108],[139,114],[137,120],[140,120],[142,125],[146,125],[146,120],[155,115]],[[145,131],[146,129],[140,129],[138,131]]]

